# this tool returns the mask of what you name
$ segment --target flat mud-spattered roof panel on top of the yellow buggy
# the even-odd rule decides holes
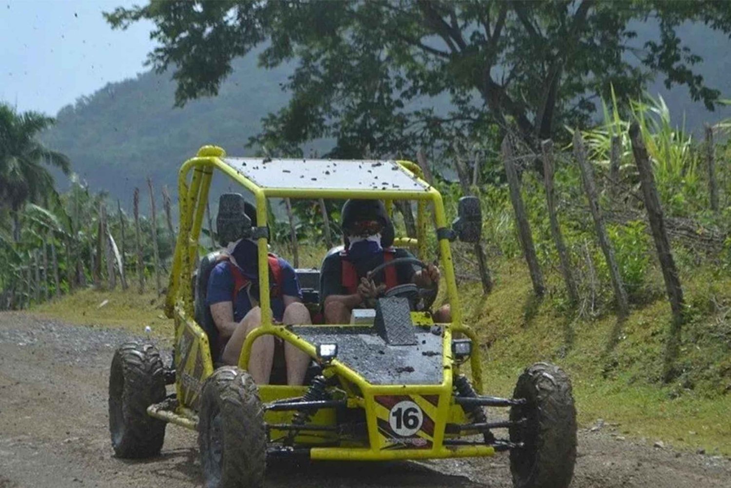
[[[221,158],[261,189],[428,192],[395,161]]]

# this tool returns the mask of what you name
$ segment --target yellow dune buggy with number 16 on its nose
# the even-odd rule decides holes
[[[256,239],[259,269],[268,269],[268,198],[379,199],[388,211],[395,200],[415,201],[417,238],[397,237],[394,244],[423,256],[427,223],[436,224],[452,323],[433,323],[428,309],[414,305],[423,292],[415,285],[389,290],[375,309],[354,311],[346,324],[274,325],[270,309],[262,307],[262,326],[246,337],[238,367],[215,364],[216,328],[205,290],[218,254],[195,264],[214,173],[254,196],[258,227],[243,211],[234,211],[219,219],[218,230],[230,239]],[[482,394],[480,347],[462,322],[450,251],[457,238],[479,238],[480,203],[461,199],[450,225],[442,195],[420,175],[407,161],[236,158],[216,146],[204,146],[186,161],[178,179],[180,233],[166,304],[167,316],[175,320],[173,364],[165,367],[159,351],[145,343],[129,342],[116,351],[109,382],[115,454],[159,454],[171,422],[199,432],[206,487],[260,487],[273,456],[379,461],[497,451],[510,451],[516,487],[567,487],[576,457],[569,378],[558,367],[539,363],[520,375],[512,398]],[[225,197],[229,203],[243,199]],[[417,259],[410,263],[423,266]],[[317,311],[319,270],[297,272],[306,305]],[[269,279],[260,276],[261,303],[269,301]],[[262,334],[311,356],[304,386],[254,384],[246,364],[252,342]],[[461,374],[468,361],[469,377]],[[168,395],[166,386],[172,384],[175,392]],[[486,407],[510,412],[488,415]]]

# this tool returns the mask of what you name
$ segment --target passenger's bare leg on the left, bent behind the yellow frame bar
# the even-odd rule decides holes
[[[234,331],[229,342],[221,356],[225,364],[238,364],[241,354],[243,340],[262,324],[262,314],[259,307],[249,310],[249,313],[241,320],[238,328]],[[257,385],[265,385],[269,383],[269,377],[272,372],[272,363],[274,361],[274,337],[265,335],[259,337],[251,345],[251,356],[249,364],[246,368],[254,383]]]

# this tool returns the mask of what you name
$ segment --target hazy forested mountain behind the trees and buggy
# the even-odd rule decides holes
[[[657,37],[653,23],[636,23],[637,39],[632,44],[642,49],[645,40]],[[678,35],[705,61],[696,67],[709,86],[731,97],[731,56],[729,39],[702,24],[685,24]],[[628,61],[632,61],[629,59]],[[638,61],[635,59],[635,63]],[[257,67],[250,54],[233,64],[233,72],[222,84],[219,96],[189,102],[174,108],[175,83],[170,74],[145,72],[137,78],[110,83],[89,97],[58,112],[56,127],[45,133],[44,142],[72,160],[72,168],[94,189],[107,189],[127,208],[135,187],[145,187],[151,176],[156,187],[166,184],[177,193],[177,171],[181,162],[195,155],[200,146],[216,144],[232,155],[251,155],[245,144],[260,130],[260,119],[287,103],[281,91],[292,65],[273,70]],[[651,94],[662,94],[677,124],[697,130],[704,122],[713,123],[731,116],[721,108],[709,113],[700,102],[689,99],[688,90],[667,90],[662,80],[653,83]],[[445,99],[436,100],[437,105]],[[315,146],[322,154],[322,143]],[[61,180],[63,181],[63,180]],[[61,187],[64,185],[61,184]],[[217,186],[226,187],[224,182]],[[147,202],[143,199],[143,203]]]

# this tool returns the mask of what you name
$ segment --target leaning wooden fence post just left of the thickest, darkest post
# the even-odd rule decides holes
[[[614,247],[609,240],[609,236],[607,236],[604,217],[602,217],[602,209],[599,207],[599,196],[596,193],[596,184],[594,184],[594,171],[586,160],[586,147],[584,146],[581,132],[578,129],[574,132],[574,155],[581,170],[581,179],[583,181],[584,191],[586,192],[586,198],[589,202],[591,217],[594,218],[594,227],[596,228],[596,236],[599,238],[599,246],[602,247],[602,252],[604,252],[607,260],[607,267],[609,268],[609,275],[612,279],[614,295],[619,309],[619,317],[626,318],[629,315],[627,293],[624,290],[624,285],[622,285],[619,266],[617,266],[617,260],[614,255]]]

